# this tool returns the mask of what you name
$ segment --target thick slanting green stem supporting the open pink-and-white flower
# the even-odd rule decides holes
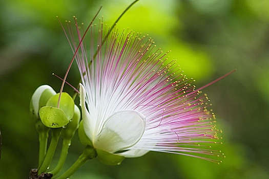
[[[89,159],[93,159],[97,156],[94,148],[86,146],[82,154],[79,156],[77,161],[61,176],[56,179],[66,179],[77,171],[82,165],[84,165]]]

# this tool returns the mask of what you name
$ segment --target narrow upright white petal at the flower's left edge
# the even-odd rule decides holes
[[[79,86],[80,106],[85,134],[91,141],[93,141],[94,126],[91,123],[91,116],[86,108],[86,90],[81,83],[79,84]]]

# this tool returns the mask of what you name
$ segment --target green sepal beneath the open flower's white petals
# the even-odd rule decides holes
[[[124,159],[124,156],[106,152],[104,150],[96,149],[97,158],[99,161],[106,165],[119,165]]]

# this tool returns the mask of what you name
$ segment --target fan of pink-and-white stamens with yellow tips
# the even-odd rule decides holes
[[[77,23],[75,25],[78,35],[75,37],[81,41],[81,34],[84,32],[81,33],[77,29]],[[96,130],[101,130],[105,119],[114,111],[131,109],[139,111],[147,121],[140,142],[130,149],[188,156],[222,155],[212,150],[211,146],[207,146],[213,143],[221,144],[208,141],[219,139],[217,133],[221,131],[215,127],[215,115],[212,110],[206,109],[211,105],[208,103],[209,99],[200,95],[199,90],[234,71],[196,90],[196,86],[193,85],[195,80],[182,75],[181,69],[176,69],[176,60],[167,61],[165,56],[170,51],[162,52],[156,49],[154,41],[147,35],[142,36],[140,33],[126,30],[118,33],[119,30],[109,28],[107,31],[112,33],[105,36],[109,32],[103,30],[101,20],[98,39],[95,42],[92,27],[89,57],[87,58],[84,39],[80,46],[81,54],[76,54],[76,60],[82,84],[87,92],[89,113],[96,115],[96,121],[93,121]],[[73,31],[70,32],[70,36],[73,49],[79,48],[74,43]],[[96,54],[93,53],[95,48]],[[92,62],[91,66],[88,65],[88,60]]]

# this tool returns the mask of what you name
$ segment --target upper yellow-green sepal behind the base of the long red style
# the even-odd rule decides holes
[[[51,97],[46,106],[57,107],[59,93]],[[59,108],[64,111],[68,120],[71,120],[74,115],[75,103],[68,93],[62,93]]]

